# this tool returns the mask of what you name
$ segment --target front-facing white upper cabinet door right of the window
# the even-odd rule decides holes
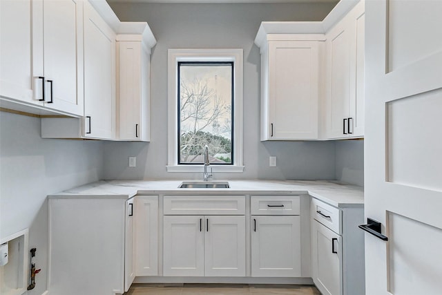
[[[318,42],[269,42],[269,140],[318,138]]]

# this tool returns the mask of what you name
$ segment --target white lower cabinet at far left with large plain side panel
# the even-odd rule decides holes
[[[115,294],[133,282],[133,198],[49,200],[50,294]]]

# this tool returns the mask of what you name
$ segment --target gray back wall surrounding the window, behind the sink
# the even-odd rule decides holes
[[[157,39],[151,55],[151,142],[109,142],[104,154],[106,179],[201,178],[167,173],[167,50],[243,48],[244,173],[221,178],[335,179],[334,142],[260,142],[260,53],[253,44],[261,21],[322,20],[334,3],[160,4],[115,3],[122,21],[147,21]],[[137,167],[128,168],[128,156]],[[269,155],[278,166],[269,167]]]

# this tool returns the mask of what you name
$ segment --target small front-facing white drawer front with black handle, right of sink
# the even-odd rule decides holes
[[[251,196],[252,215],[299,215],[299,196]]]

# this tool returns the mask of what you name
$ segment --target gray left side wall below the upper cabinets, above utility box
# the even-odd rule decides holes
[[[46,196],[103,178],[103,142],[41,139],[41,120],[0,112],[0,237],[29,228],[41,272],[28,294],[46,290]]]

